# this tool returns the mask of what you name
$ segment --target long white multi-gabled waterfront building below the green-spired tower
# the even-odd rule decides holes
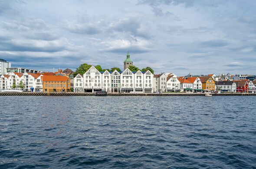
[[[146,72],[131,72],[126,68],[123,72],[99,72],[94,66],[90,67],[83,75],[74,78],[75,92],[153,92],[154,75],[149,70]]]

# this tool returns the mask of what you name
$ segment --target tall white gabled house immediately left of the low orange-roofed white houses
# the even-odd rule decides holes
[[[181,82],[177,80],[175,74],[168,75],[166,78],[166,92],[180,92]]]

